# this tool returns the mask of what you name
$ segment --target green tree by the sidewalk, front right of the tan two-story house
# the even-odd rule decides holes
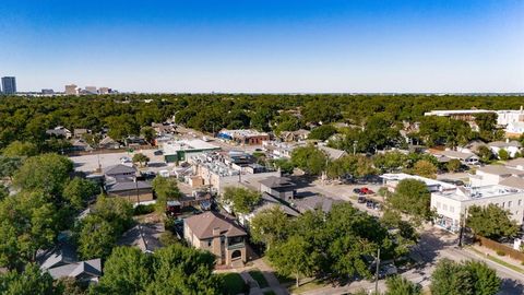
[[[272,263],[283,275],[294,275],[297,287],[300,275],[311,275],[314,269],[314,257],[310,245],[300,236],[291,236],[285,243],[276,244],[267,250]]]

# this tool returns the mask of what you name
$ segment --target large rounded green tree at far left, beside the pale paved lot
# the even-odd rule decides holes
[[[60,203],[64,185],[73,172],[73,163],[57,154],[28,157],[15,173],[13,184],[26,190],[43,190]]]

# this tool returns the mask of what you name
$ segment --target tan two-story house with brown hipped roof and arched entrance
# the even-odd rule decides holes
[[[247,233],[233,220],[207,211],[183,222],[183,237],[193,247],[216,256],[217,264],[243,267]]]

